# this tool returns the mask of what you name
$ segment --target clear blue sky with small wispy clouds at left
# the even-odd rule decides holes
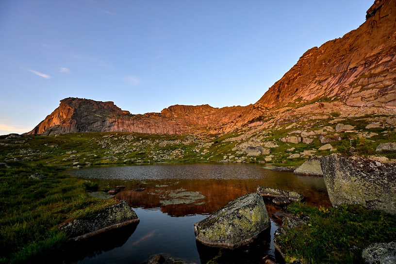
[[[67,97],[132,114],[260,99],[298,58],[365,20],[373,0],[0,1],[0,134]]]

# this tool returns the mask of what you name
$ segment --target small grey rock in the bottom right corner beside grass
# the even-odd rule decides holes
[[[375,243],[363,249],[363,262],[366,264],[396,263],[396,241]]]

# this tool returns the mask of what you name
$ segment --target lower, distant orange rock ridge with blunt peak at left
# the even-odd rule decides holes
[[[214,108],[210,105],[174,105],[161,113],[132,115],[113,102],[66,98],[28,134],[65,132],[199,133],[225,132],[258,113],[252,105]],[[244,116],[242,118],[242,116]],[[209,131],[208,131],[209,128]]]

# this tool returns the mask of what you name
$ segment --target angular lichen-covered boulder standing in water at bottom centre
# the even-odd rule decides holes
[[[235,248],[253,241],[270,226],[263,198],[246,194],[195,224],[197,240],[212,247]]]

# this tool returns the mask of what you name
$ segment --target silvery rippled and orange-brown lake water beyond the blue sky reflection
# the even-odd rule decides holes
[[[264,169],[257,164],[162,164],[92,167],[71,171],[101,188],[125,185],[116,195],[132,207],[161,208],[172,216],[210,214],[262,185],[303,194],[306,202],[330,206],[322,178]],[[144,191],[132,191],[145,188]]]

